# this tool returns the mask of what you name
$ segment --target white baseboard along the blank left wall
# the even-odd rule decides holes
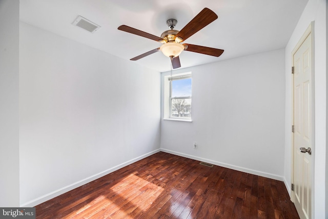
[[[107,170],[105,170],[103,172],[100,172],[100,173],[94,174],[92,176],[89,176],[89,177],[85,178],[84,180],[80,180],[80,181],[78,181],[76,183],[73,183],[71,185],[65,186],[63,188],[57,189],[57,190],[55,190],[53,192],[50,192],[48,194],[45,194],[43,196],[37,197],[34,200],[31,200],[29,202],[26,202],[24,204],[21,204],[20,207],[34,207],[36,205],[39,205],[41,203],[44,203],[44,202],[46,202],[48,200],[51,200],[51,198],[54,198],[54,197],[56,197],[58,195],[61,195],[61,194],[64,194],[65,192],[68,192],[70,190],[73,190],[73,189],[75,189],[75,188],[77,188],[79,186],[83,186],[83,185],[85,185],[87,183],[90,183],[90,182],[96,180],[97,178],[103,177],[103,176],[105,176],[105,175],[107,175],[107,174],[109,174],[111,172],[114,172],[114,171],[120,169],[120,168],[126,167],[126,166],[128,166],[130,164],[133,164],[134,162],[140,161],[140,160],[142,160],[142,159],[144,159],[144,158],[146,158],[146,157],[148,157],[148,156],[150,156],[152,154],[155,154],[155,153],[157,153],[159,151],[160,151],[160,149],[156,149],[156,150],[151,151],[149,153],[146,153],[144,155],[138,156],[138,157],[136,157],[136,158],[134,158],[134,159],[132,159],[130,161],[124,162],[124,163],[122,163],[120,165],[117,165],[115,167],[109,168],[109,169],[107,169]]]

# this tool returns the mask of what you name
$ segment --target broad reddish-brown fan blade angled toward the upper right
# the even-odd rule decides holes
[[[180,30],[176,37],[182,38],[182,41],[185,41],[187,38],[211,24],[217,18],[216,13],[214,13],[211,9],[204,8],[199,12],[185,27]],[[182,42],[181,41],[181,42]]]

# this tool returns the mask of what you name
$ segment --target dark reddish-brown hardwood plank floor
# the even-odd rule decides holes
[[[36,207],[36,218],[299,218],[283,182],[164,152]]]

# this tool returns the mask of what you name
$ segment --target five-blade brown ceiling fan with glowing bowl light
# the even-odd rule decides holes
[[[159,48],[150,50],[144,54],[138,55],[130,60],[136,61],[140,58],[143,58],[147,55],[153,54],[155,52],[161,51],[164,55],[171,58],[172,67],[174,69],[181,67],[179,54],[183,51],[197,52],[206,55],[212,56],[220,56],[224,50],[215,49],[211,47],[197,46],[193,44],[180,44],[185,41],[187,38],[211,24],[215,19],[217,19],[217,15],[210,9],[204,8],[201,12],[199,12],[185,27],[183,27],[180,31],[173,30],[175,25],[177,24],[176,19],[168,19],[167,25],[170,30],[167,30],[161,34],[160,37],[152,35],[150,33],[146,33],[141,30],[137,30],[135,28],[121,25],[117,29],[122,30],[128,33],[132,33],[135,35],[143,36],[149,39],[153,39],[159,43],[162,43]]]

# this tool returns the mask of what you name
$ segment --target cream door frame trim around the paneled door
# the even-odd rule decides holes
[[[304,31],[302,37],[299,39],[298,43],[296,44],[296,46],[294,47],[294,49],[292,50],[292,54],[291,54],[291,60],[292,60],[292,67],[294,66],[294,54],[296,53],[296,51],[299,49],[299,47],[302,45],[302,43],[304,42],[305,38],[308,37],[308,35],[311,34],[311,86],[312,86],[312,95],[311,95],[311,110],[312,110],[312,115],[311,115],[311,120],[312,120],[312,124],[311,124],[311,132],[312,132],[312,142],[311,142],[311,149],[312,149],[312,163],[311,163],[311,174],[312,174],[312,192],[311,192],[311,216],[312,218],[314,218],[314,164],[315,164],[315,95],[314,95],[314,21],[310,23],[309,27],[306,28],[306,30]],[[294,125],[294,74],[292,74],[292,125]],[[291,127],[292,128],[292,127]],[[294,145],[294,132],[292,132],[292,141],[291,141],[291,183],[294,184],[294,149],[295,149]],[[294,196],[295,196],[295,192],[293,190],[291,190],[291,201],[294,203]]]

